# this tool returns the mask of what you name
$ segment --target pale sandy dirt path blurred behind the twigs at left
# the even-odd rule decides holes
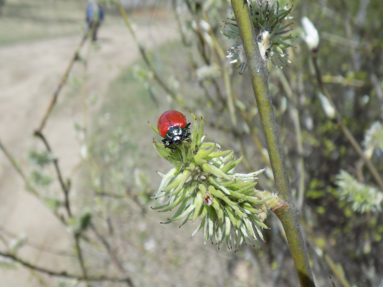
[[[140,27],[140,41],[147,48],[177,37],[173,23],[157,21],[151,28]],[[139,57],[128,30],[123,26],[101,28],[101,48],[91,52],[88,65],[88,95],[105,95],[108,85],[121,69]],[[80,37],[67,37],[0,47],[0,139],[9,151],[21,160],[28,148],[36,145],[31,134],[39,126],[52,92],[68,65]],[[77,64],[77,75],[81,66]],[[81,108],[65,107],[65,89],[59,96],[62,108],[49,118],[44,130],[54,154],[59,158],[64,177],[79,162],[80,147],[74,138],[74,120],[81,117]],[[79,95],[80,96],[80,95]],[[79,101],[80,102],[80,101]],[[65,102],[64,102],[65,103]],[[22,163],[23,164],[23,163]],[[41,249],[70,250],[70,236],[63,225],[33,195],[24,189],[20,176],[0,152],[0,228],[14,234],[25,233],[29,243]],[[0,241],[0,248],[3,245]],[[61,270],[64,264],[74,263],[52,253],[41,252],[31,246],[18,253],[39,266]],[[4,286],[39,286],[25,268],[0,269]]]

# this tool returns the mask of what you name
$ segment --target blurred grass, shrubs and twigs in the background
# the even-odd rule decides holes
[[[124,27],[115,2],[99,3],[106,14],[101,36],[103,29]],[[381,177],[383,6],[378,0],[280,1],[281,7],[286,4],[293,6],[289,33],[296,38],[286,49],[292,63],[282,69],[268,65],[268,78],[316,285],[331,286],[331,276],[337,286],[381,287],[381,186],[332,115],[334,106],[322,95],[311,51],[302,39],[301,19],[307,16],[318,29],[316,57],[323,85]],[[21,44],[28,49],[28,43],[67,36],[78,36],[79,41],[86,5],[75,0],[0,1],[0,49]],[[221,33],[224,21],[232,17],[230,3],[148,0],[121,1],[121,5],[133,27],[121,37],[133,42],[140,28],[150,31],[161,21],[178,34],[154,49],[137,41],[141,54],[135,52],[134,64],[122,67],[102,93],[90,95],[84,88],[91,77],[86,68],[70,73],[55,109],[70,106],[82,114],[80,120],[67,117],[80,147],[73,150],[79,157],[72,172],[63,171],[71,212],[57,184],[54,164],[60,158],[56,161],[53,152],[37,143],[41,138],[14,158],[25,173],[26,190],[59,219],[57,224],[65,227],[70,244],[60,253],[54,244],[48,248],[40,243],[37,255],[23,258],[23,248],[33,246],[33,241],[28,234],[15,232],[17,228],[5,228],[6,220],[3,225],[0,220],[1,272],[17,276],[25,268],[20,264],[28,261],[30,277],[26,282],[16,280],[19,286],[297,286],[283,229],[273,214],[265,221],[271,229],[264,230],[262,249],[242,246],[234,254],[204,246],[200,234],[190,239],[195,223],[182,228],[176,223],[160,225],[169,215],[150,209],[157,202],[149,195],[160,183],[155,171],[166,173],[170,166],[156,155],[152,137],[159,139],[147,121],[155,124],[167,109],[182,111],[188,119],[188,111],[202,116],[207,141],[232,148],[237,157],[244,155],[237,171],[266,168],[257,188],[275,191],[249,73],[240,74],[238,64],[228,65],[226,58],[234,44]],[[108,56],[97,54],[104,44],[100,37],[97,44],[80,49],[75,65],[86,67],[96,57],[107,64]],[[48,103],[46,95],[39,114]],[[52,118],[58,113],[55,109]],[[6,142],[7,136],[2,133],[0,139]],[[1,160],[2,166],[8,164],[6,157]],[[69,192],[70,188],[76,192]],[[40,224],[34,228],[38,230]],[[46,268],[56,276],[36,269],[37,258],[49,250],[56,250],[57,260],[67,262],[62,269]],[[69,278],[59,276],[64,271]]]

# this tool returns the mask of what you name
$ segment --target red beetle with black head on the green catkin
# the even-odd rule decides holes
[[[169,146],[173,143],[178,145],[183,140],[187,140],[190,136],[189,126],[190,122],[187,124],[186,116],[178,111],[166,111],[158,119],[157,129],[160,135],[165,137],[162,142],[165,144],[165,148],[173,148],[172,154],[175,152],[175,147]]]

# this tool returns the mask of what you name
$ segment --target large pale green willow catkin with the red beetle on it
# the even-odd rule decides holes
[[[274,194],[255,189],[256,176],[264,170],[234,173],[242,157],[235,160],[233,150],[221,150],[217,143],[204,143],[203,120],[198,127],[195,116],[191,116],[190,139],[179,144],[173,154],[172,149],[153,141],[159,155],[174,167],[167,174],[160,173],[162,182],[152,198],[167,201],[152,209],[165,212],[178,206],[175,214],[162,222],[164,224],[184,219],[183,225],[200,218],[193,235],[202,228],[205,244],[209,239],[211,243],[215,240],[219,248],[225,241],[231,249],[233,235],[235,251],[244,241],[259,246],[257,236],[263,240],[261,230],[267,228],[263,223],[267,210],[278,205]]]

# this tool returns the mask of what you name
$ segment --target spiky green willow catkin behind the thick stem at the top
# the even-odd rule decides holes
[[[290,47],[286,40],[295,38],[291,34],[283,36],[290,31],[287,29],[291,23],[283,23],[284,20],[291,18],[291,8],[279,7],[277,0],[247,0],[249,4],[250,15],[253,21],[255,34],[254,39],[258,43],[262,58],[278,68],[287,65],[290,62],[285,56],[284,48]],[[229,39],[237,42],[233,44],[226,57],[232,59],[229,64],[239,62],[240,73],[246,69],[246,59],[244,57],[241,37],[239,36],[238,26],[234,17],[229,18],[225,23],[222,33]],[[278,59],[278,62],[276,61]]]

